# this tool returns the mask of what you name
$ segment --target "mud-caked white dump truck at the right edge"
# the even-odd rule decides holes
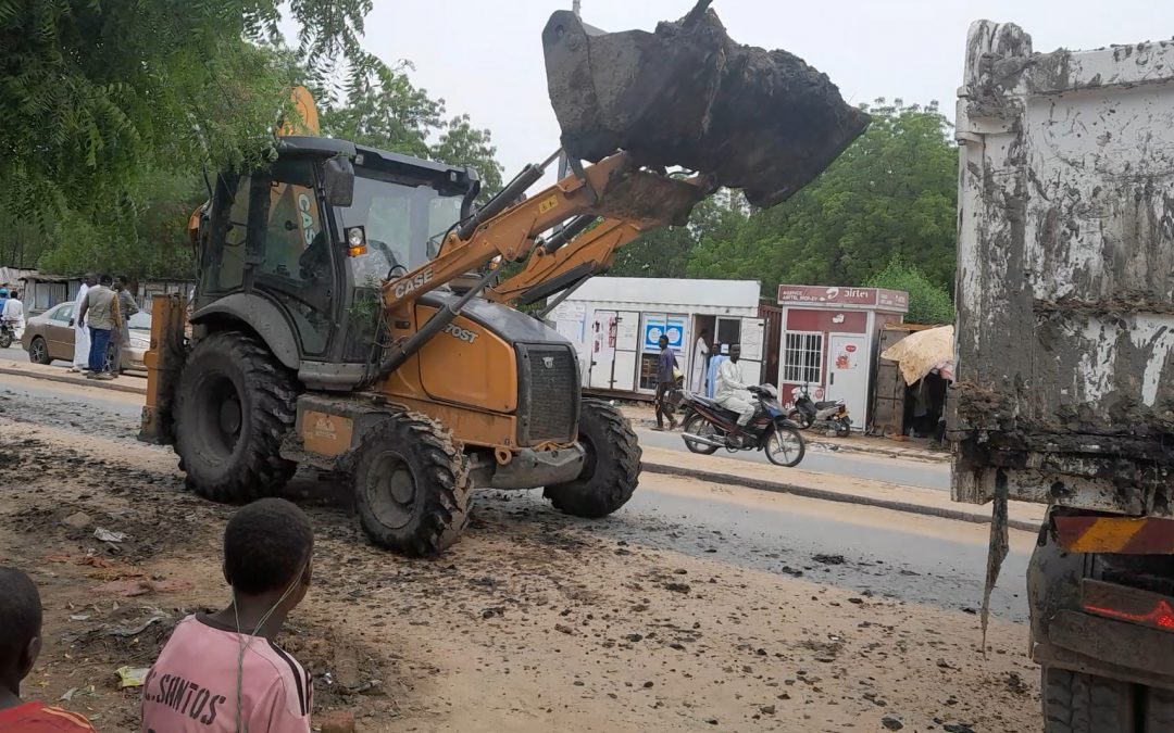
[[[970,28],[952,493],[1047,504],[1027,571],[1046,733],[1174,731],[1174,43]]]

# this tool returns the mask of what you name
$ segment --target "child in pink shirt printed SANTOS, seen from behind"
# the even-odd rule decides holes
[[[313,687],[276,644],[310,586],[313,532],[296,505],[263,498],[224,529],[232,603],[183,619],[143,686],[143,733],[309,733]]]

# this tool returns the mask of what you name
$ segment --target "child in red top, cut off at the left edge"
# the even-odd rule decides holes
[[[20,681],[41,653],[41,595],[15,568],[0,568],[0,732],[94,733],[83,715],[21,701]]]

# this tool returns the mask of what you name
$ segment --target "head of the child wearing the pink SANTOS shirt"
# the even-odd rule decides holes
[[[282,605],[292,609],[310,585],[312,550],[305,514],[284,498],[262,498],[224,528],[224,579],[238,599],[284,596]]]

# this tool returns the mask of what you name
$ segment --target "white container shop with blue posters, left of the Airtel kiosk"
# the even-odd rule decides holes
[[[708,340],[742,345],[742,373],[762,376],[763,320],[755,280],[609,278],[586,281],[547,319],[579,352],[583,389],[640,396],[656,392],[657,341],[669,339],[684,384],[693,384],[694,348]]]

